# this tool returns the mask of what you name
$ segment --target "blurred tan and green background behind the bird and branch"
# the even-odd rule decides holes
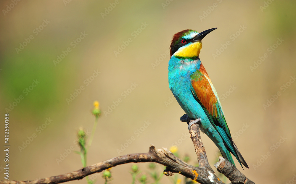
[[[3,140],[8,111],[9,179],[34,180],[81,168],[80,156],[74,150],[65,154],[65,150],[79,150],[75,143],[79,127],[91,131],[95,100],[100,102],[102,116],[88,165],[147,152],[151,143],[156,148],[170,148],[175,142],[178,153],[188,154],[189,163],[195,164],[192,141],[182,137],[188,135],[187,125],[179,120],[184,112],[168,87],[170,57],[165,53],[173,34],[215,27],[218,29],[203,39],[200,59],[218,92],[234,141],[250,167],[242,172],[255,183],[275,184],[287,183],[296,174],[296,1],[0,3],[0,130]],[[122,46],[128,40],[128,46]],[[230,44],[225,49],[226,43]],[[118,47],[123,49],[115,54]],[[58,56],[63,59],[54,62]],[[260,58],[265,59],[261,62]],[[39,82],[35,87],[31,86],[34,80]],[[67,101],[71,94],[76,97]],[[20,95],[23,99],[19,100]],[[10,104],[16,106],[12,109]],[[46,118],[52,121],[48,123]],[[151,124],[137,134],[145,121]],[[36,138],[28,141],[34,133]],[[118,154],[131,136],[136,139]],[[213,166],[218,149],[205,134],[202,140]],[[26,141],[29,144],[20,149]],[[268,151],[271,154],[266,158]],[[4,151],[0,154],[0,166],[4,166]],[[57,163],[61,154],[67,156]],[[146,172],[147,165],[139,167]],[[111,183],[131,183],[130,167],[112,168]],[[1,169],[1,180],[3,172]],[[101,175],[97,183],[103,183]],[[163,177],[161,183],[170,180]]]

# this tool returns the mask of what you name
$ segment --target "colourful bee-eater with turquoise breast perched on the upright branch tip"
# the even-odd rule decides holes
[[[215,29],[201,33],[187,29],[173,35],[169,86],[188,117],[200,119],[200,130],[210,137],[222,156],[234,164],[233,154],[241,166],[249,168],[231,138],[218,94],[199,58],[202,38]]]

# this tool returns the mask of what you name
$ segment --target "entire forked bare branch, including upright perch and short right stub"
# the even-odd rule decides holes
[[[189,134],[197,154],[199,167],[193,167],[186,164],[165,148],[156,150],[154,146],[150,146],[148,153],[136,153],[118,156],[67,174],[30,181],[0,181],[0,184],[63,183],[71,180],[80,180],[83,177],[96,172],[102,172],[110,167],[115,167],[120,164],[131,162],[156,162],[167,167],[164,170],[164,174],[167,176],[173,175],[173,173],[179,173],[202,184],[222,184],[223,182],[220,181],[219,178],[214,174],[214,171],[210,167],[210,164],[207,160],[205,147],[203,146],[202,140],[200,138],[200,120],[190,120],[190,118],[184,114],[181,117],[181,121],[187,122],[187,124],[189,124]],[[223,175],[228,177],[232,184],[254,184],[254,182],[245,177],[241,172],[239,172],[239,170],[237,170],[234,165],[232,165],[227,160],[219,157],[219,161],[220,162],[215,164],[215,167],[217,168],[218,172],[221,172]]]

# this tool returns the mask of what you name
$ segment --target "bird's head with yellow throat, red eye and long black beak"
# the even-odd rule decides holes
[[[217,28],[197,33],[195,30],[186,29],[173,36],[170,44],[170,57],[173,55],[180,58],[196,58],[202,49],[202,38]]]

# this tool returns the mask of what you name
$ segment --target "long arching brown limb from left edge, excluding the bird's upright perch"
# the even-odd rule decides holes
[[[156,162],[167,167],[164,172],[165,175],[171,175],[172,173],[180,173],[181,175],[195,180],[199,183],[205,184],[221,184],[222,182],[214,175],[204,168],[193,167],[186,164],[182,160],[178,159],[167,149],[156,150],[154,146],[150,146],[148,153],[136,153],[128,154],[124,156],[118,156],[98,164],[94,164],[88,167],[84,167],[80,170],[70,172],[64,175],[48,177],[40,180],[32,181],[0,181],[1,184],[53,184],[63,183],[71,180],[80,180],[87,175],[94,174],[96,172],[102,172],[110,167],[115,167],[120,164],[126,164],[130,162]],[[210,176],[210,177],[209,177]]]

